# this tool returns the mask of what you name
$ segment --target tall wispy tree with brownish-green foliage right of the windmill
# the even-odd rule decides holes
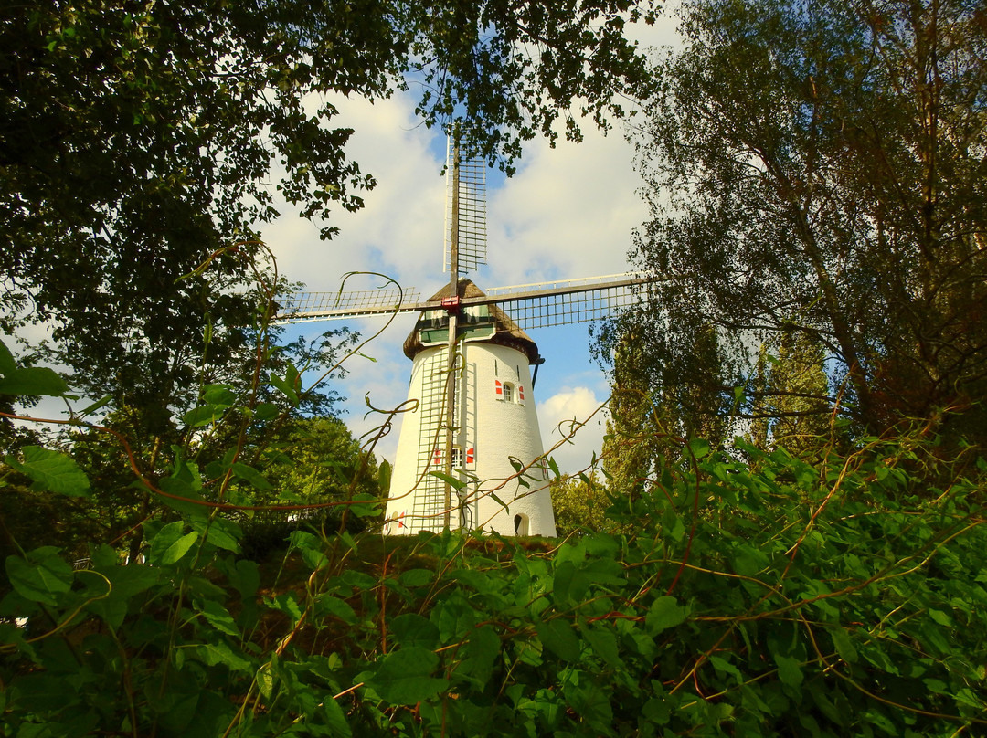
[[[633,135],[652,212],[633,257],[666,279],[646,361],[695,386],[706,359],[688,342],[716,327],[721,390],[763,408],[755,347],[820,345],[831,381],[802,398],[820,413],[987,440],[984,9],[692,0],[682,12],[685,46],[657,63]]]

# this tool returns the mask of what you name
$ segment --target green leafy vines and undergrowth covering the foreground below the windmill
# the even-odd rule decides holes
[[[742,442],[741,442],[742,443]],[[693,440],[551,550],[299,531],[276,574],[181,456],[142,559],[9,556],[9,735],[948,736],[985,725],[982,460]],[[929,465],[938,464],[938,475]],[[946,470],[951,469],[945,465]],[[78,490],[62,463],[39,486]],[[64,478],[64,479],[63,479]],[[243,480],[250,481],[250,475]],[[67,484],[66,484],[67,482]],[[181,494],[179,494],[181,492]],[[52,492],[54,493],[54,492]]]

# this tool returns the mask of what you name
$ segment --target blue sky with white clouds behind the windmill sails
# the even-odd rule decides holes
[[[646,29],[640,42],[674,42],[674,20]],[[416,287],[422,299],[448,282],[443,274],[445,210],[445,138],[420,125],[414,100],[397,95],[369,104],[363,100],[334,100],[337,124],[352,127],[347,146],[351,158],[377,186],[366,192],[365,207],[331,216],[340,228],[332,241],[320,241],[316,225],[287,213],[264,231],[278,259],[278,270],[301,281],[311,291],[339,290],[349,271],[373,270]],[[629,270],[627,252],[633,230],[647,212],[638,190],[642,181],[633,166],[634,151],[618,127],[608,135],[591,121],[582,126],[585,138],[573,144],[560,140],[551,148],[544,140],[526,144],[514,177],[504,180],[488,170],[488,264],[468,274],[481,289],[558,279],[616,274]],[[347,288],[381,284],[369,279]],[[302,324],[290,336],[318,335],[329,328],[349,326],[369,335],[385,321],[366,319]],[[398,316],[386,332],[354,356],[347,376],[332,386],[348,398],[342,419],[359,436],[379,425],[381,417],[366,416],[365,397],[373,406],[392,408],[407,399],[412,362],[401,345],[415,317]],[[590,357],[588,324],[530,331],[546,362],[539,368],[534,396],[546,450],[562,436],[559,423],[589,422],[569,443],[552,453],[564,473],[587,467],[599,453],[604,416],[594,411],[609,397],[607,378]],[[394,460],[399,428],[383,438],[378,457]]]

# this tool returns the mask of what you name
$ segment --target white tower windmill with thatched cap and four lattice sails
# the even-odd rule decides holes
[[[385,533],[483,528],[555,535],[533,385],[544,361],[524,329],[604,318],[650,281],[618,274],[481,290],[464,274],[487,262],[486,162],[450,145],[446,166],[448,283],[416,291],[295,295],[279,322],[418,313]],[[532,373],[531,367],[534,367]],[[437,474],[433,474],[437,473]]]

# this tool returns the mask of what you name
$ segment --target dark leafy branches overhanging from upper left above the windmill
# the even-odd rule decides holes
[[[164,424],[200,384],[192,366],[243,349],[249,287],[276,284],[254,243],[277,214],[271,183],[310,218],[374,184],[332,95],[414,82],[426,124],[509,168],[560,117],[578,136],[577,99],[601,124],[622,113],[615,95],[645,77],[623,27],[642,17],[629,0],[7,6],[0,330],[47,322],[76,387]]]

